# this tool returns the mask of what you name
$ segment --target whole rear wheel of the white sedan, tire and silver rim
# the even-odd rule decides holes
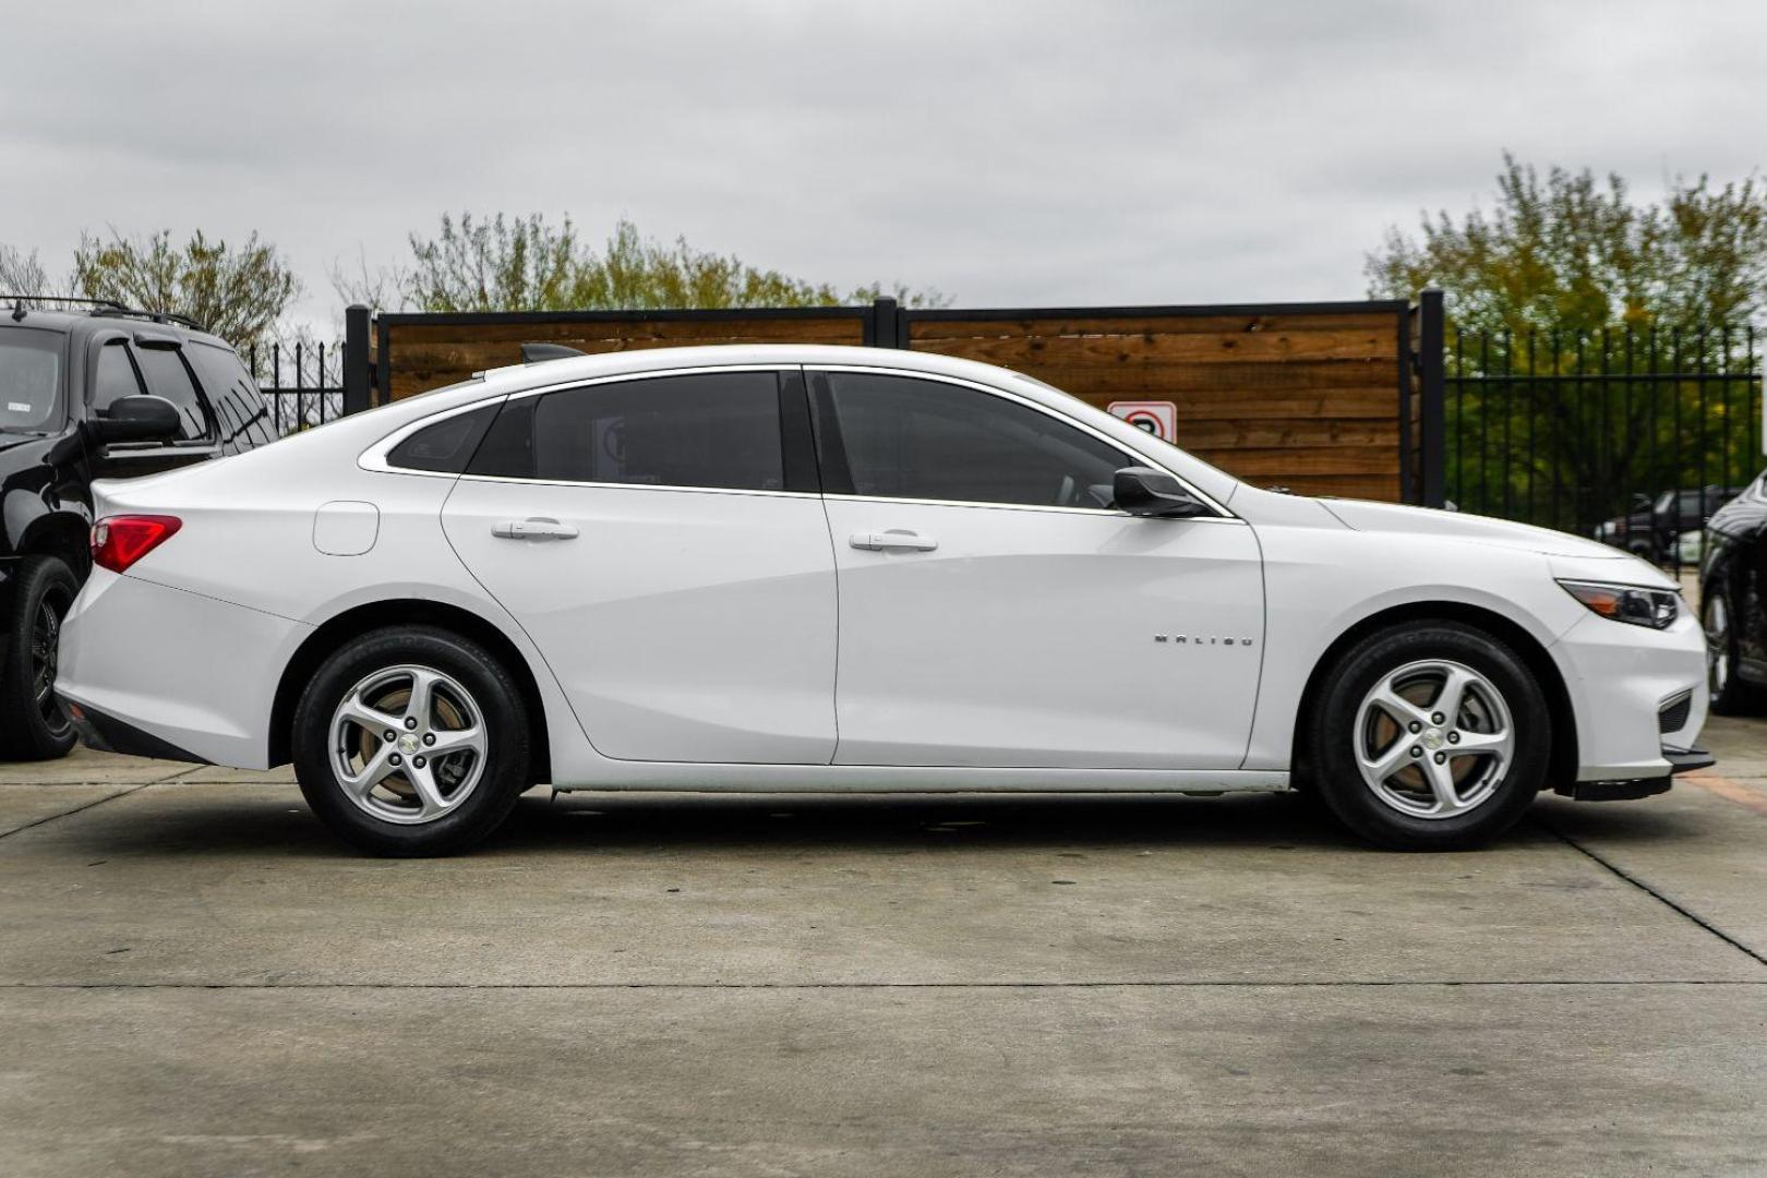
[[[428,819],[413,812],[424,804],[419,800],[421,791],[410,768],[394,770],[387,786],[371,784],[362,802],[346,791],[343,770],[348,765],[343,758],[355,756],[366,768],[368,751],[382,752],[380,742],[366,726],[339,721],[343,736],[334,744],[337,710],[359,685],[385,676],[391,694],[382,696],[383,699],[396,699],[399,683],[410,683],[405,687],[406,696],[415,692],[415,680],[403,678],[399,668],[433,671],[444,680],[452,680],[452,685],[444,682],[436,687],[440,703],[433,705],[431,715],[445,721],[445,714],[451,714],[463,726],[470,726],[475,715],[484,738],[484,749],[472,754],[474,759],[466,759],[465,752],[429,754],[435,761],[429,765],[433,774],[429,781],[442,782],[440,788],[445,789],[444,772],[456,770],[459,782],[454,786],[456,793],[444,798],[451,809],[438,811]],[[456,694],[465,699],[454,698]],[[413,717],[403,719],[408,722]],[[385,742],[389,745],[385,752],[392,758],[403,747],[406,731],[403,728],[389,731],[394,738]],[[435,733],[447,736],[449,729],[444,722],[436,722]],[[428,736],[428,721],[410,735],[413,740]],[[451,855],[497,830],[514,807],[516,797],[532,784],[530,744],[527,706],[509,669],[477,643],[431,625],[387,627],[350,639],[320,666],[300,694],[292,733],[295,777],[320,821],[364,851],[405,857]],[[412,749],[413,756],[408,756],[406,763],[424,765],[424,747],[413,744]],[[461,765],[477,765],[477,774]],[[364,774],[362,779],[371,775]],[[466,781],[472,784],[465,784]]]

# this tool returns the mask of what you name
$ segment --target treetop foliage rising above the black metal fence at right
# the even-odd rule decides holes
[[[1465,332],[1740,325],[1767,298],[1767,184],[1677,178],[1642,205],[1619,175],[1541,177],[1505,152],[1490,214],[1389,230],[1364,270],[1375,297],[1440,286]]]

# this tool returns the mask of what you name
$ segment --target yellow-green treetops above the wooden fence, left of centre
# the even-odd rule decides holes
[[[666,307],[832,307],[894,293],[908,306],[942,306],[937,291],[880,284],[841,291],[735,254],[663,244],[620,221],[601,249],[565,217],[442,217],[435,237],[410,235],[408,270],[334,284],[346,298],[385,306],[389,293],[417,311],[652,311]]]

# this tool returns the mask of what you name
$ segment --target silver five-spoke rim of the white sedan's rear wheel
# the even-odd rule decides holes
[[[357,807],[421,825],[452,812],[484,775],[484,712],[459,680],[391,666],[352,687],[330,722],[332,772]]]

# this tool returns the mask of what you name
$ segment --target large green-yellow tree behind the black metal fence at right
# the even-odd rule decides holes
[[[1767,185],[1702,175],[1636,203],[1617,175],[1505,154],[1497,194],[1389,231],[1366,265],[1376,297],[1445,293],[1449,498],[1585,530],[1634,495],[1756,473],[1749,383],[1712,376],[1751,364]]]

